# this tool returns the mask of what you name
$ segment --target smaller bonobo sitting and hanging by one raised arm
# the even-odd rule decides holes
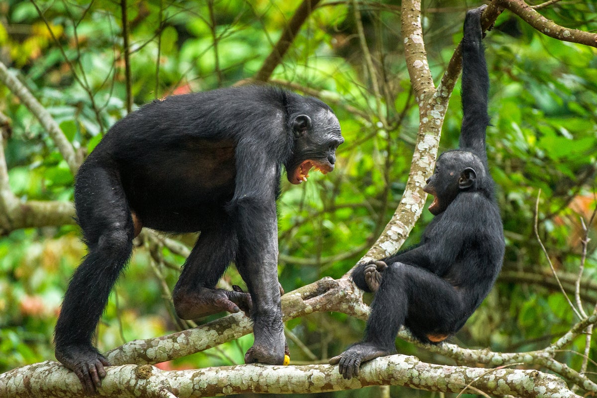
[[[365,337],[330,360],[350,379],[362,362],[396,352],[406,326],[418,340],[439,343],[456,333],[491,290],[501,269],[504,236],[485,152],[489,77],[481,44],[481,14],[464,20],[460,148],[443,153],[423,190],[435,215],[414,248],[382,261],[367,259],[352,273],[376,292]],[[386,265],[388,264],[388,265]]]

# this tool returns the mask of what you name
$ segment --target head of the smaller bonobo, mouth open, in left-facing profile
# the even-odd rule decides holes
[[[433,215],[441,214],[460,192],[483,191],[490,195],[493,182],[489,180],[483,162],[474,153],[458,149],[442,153],[433,175],[423,187],[424,192],[435,196],[429,211]]]

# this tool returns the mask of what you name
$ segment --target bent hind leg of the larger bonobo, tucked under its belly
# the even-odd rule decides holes
[[[242,289],[215,289],[237,248],[236,231],[227,222],[201,231],[174,287],[174,308],[181,319],[197,319],[220,311],[249,313],[251,297]]]

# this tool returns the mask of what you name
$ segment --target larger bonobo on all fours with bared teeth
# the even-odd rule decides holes
[[[334,169],[343,143],[326,104],[273,87],[228,88],[153,101],[116,123],[81,165],[75,207],[89,252],[56,325],[56,358],[96,392],[109,365],[91,344],[110,290],[142,227],[201,231],[174,288],[183,319],[251,312],[245,362],[281,365],[276,198],[310,168]],[[249,293],[216,289],[233,261]]]

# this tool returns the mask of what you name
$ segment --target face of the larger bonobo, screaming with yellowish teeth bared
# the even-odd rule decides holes
[[[336,149],[344,142],[336,115],[319,107],[310,116],[294,116],[292,123],[294,150],[285,165],[288,181],[293,184],[307,181],[311,168],[323,174],[333,171]]]

